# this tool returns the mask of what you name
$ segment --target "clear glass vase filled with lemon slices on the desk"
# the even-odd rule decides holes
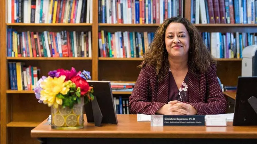
[[[83,106],[84,98],[79,104],[74,104],[73,108],[58,108],[51,106],[51,127],[53,129],[81,129],[83,128]]]

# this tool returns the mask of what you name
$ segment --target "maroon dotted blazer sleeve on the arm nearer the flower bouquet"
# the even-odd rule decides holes
[[[150,67],[142,67],[129,97],[129,109],[132,114],[155,114],[165,103],[150,102]]]

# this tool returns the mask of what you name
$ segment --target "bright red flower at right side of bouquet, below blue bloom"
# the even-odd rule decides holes
[[[80,76],[77,75],[77,76],[71,78],[71,81],[73,83],[75,83],[76,88],[80,87],[81,96],[85,95],[88,92],[89,84],[85,79],[83,79],[83,78],[81,78]]]

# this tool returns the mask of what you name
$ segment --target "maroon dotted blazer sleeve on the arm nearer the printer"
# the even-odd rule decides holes
[[[206,102],[191,103],[197,110],[197,114],[224,114],[226,111],[226,98],[220,88],[216,66],[211,65],[210,70],[206,73]]]

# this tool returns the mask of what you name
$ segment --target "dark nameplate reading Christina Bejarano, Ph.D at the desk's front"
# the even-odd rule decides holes
[[[205,126],[204,115],[151,115],[151,126]]]

